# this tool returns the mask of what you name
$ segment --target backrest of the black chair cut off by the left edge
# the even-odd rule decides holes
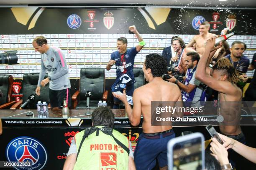
[[[10,102],[13,76],[0,74],[0,105]]]

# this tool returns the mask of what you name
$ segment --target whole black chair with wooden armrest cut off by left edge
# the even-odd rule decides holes
[[[8,109],[15,103],[12,95],[13,76],[0,74],[0,109]]]

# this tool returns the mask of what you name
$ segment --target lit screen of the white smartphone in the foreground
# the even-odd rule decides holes
[[[173,170],[198,169],[202,169],[202,139],[198,137],[174,144]]]

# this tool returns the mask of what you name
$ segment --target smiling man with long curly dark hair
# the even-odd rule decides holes
[[[175,69],[183,74],[187,71],[187,65],[185,64],[184,58],[187,56],[188,52],[195,52],[195,50],[190,47],[185,47],[185,43],[180,37],[176,37],[172,40],[172,47],[174,52],[176,52],[176,55],[175,57],[172,57],[171,60],[177,62],[178,66],[175,67]]]

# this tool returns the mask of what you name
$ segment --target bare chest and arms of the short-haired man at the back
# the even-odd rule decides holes
[[[196,43],[196,51],[198,54],[202,55],[205,52],[205,42],[211,38],[216,36],[212,33],[207,33],[206,35],[195,35],[192,40]],[[193,45],[193,44],[192,44]]]

